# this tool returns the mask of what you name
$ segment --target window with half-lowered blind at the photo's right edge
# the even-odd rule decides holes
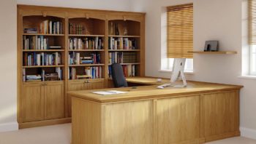
[[[256,76],[256,0],[248,1],[249,75]]]

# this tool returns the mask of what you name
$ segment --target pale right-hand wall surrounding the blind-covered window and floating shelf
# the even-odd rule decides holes
[[[144,1],[144,0],[142,0]],[[242,0],[148,0],[146,1],[146,76],[170,77],[161,66],[162,9],[194,3],[194,49],[203,50],[206,40],[219,40],[220,50],[238,55],[194,55],[194,74],[187,78],[225,84],[241,84],[241,132],[256,139],[256,79],[241,79]],[[143,10],[142,9],[142,10]],[[154,58],[152,58],[154,57]]]

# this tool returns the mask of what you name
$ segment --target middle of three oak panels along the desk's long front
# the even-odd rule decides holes
[[[200,96],[157,100],[158,143],[195,143],[200,140]]]

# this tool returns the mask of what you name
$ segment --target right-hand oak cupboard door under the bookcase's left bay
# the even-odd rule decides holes
[[[64,82],[45,84],[45,119],[64,118]]]

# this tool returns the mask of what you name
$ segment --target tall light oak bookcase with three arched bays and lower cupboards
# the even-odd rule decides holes
[[[61,34],[24,33],[24,28],[38,28],[43,20],[59,20],[62,23]],[[118,23],[119,35],[110,35],[110,23]],[[69,33],[69,23],[86,26],[86,33]],[[124,36],[124,25],[128,35]],[[61,46],[61,49],[23,49],[23,36],[45,36],[49,45]],[[103,49],[69,49],[69,38],[101,37]],[[110,37],[132,38],[137,41],[137,49],[108,49]],[[59,52],[60,65],[23,65],[23,57],[29,52]],[[101,60],[97,64],[69,65],[69,52],[80,55],[99,53]],[[112,87],[108,77],[109,52],[135,52],[138,63],[121,63],[136,65],[136,76],[145,76],[145,13],[116,12],[95,9],[72,9],[62,7],[39,7],[18,5],[18,124],[20,128],[39,127],[50,124],[70,122],[71,100],[68,91],[82,89],[101,89]],[[102,67],[101,79],[69,79],[69,68],[76,68],[83,73],[83,68],[90,66]],[[60,81],[23,81],[23,68],[26,74],[40,74],[44,69],[50,73],[61,68]]]

